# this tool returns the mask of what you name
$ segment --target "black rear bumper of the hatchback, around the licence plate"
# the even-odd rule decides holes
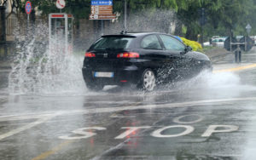
[[[113,77],[95,77],[95,72],[113,72]],[[109,71],[82,68],[85,83],[102,83],[103,85],[122,85],[125,83],[139,83],[141,71],[136,67],[126,67]]]

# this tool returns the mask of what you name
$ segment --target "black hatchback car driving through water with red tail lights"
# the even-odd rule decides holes
[[[86,51],[82,71],[88,89],[135,84],[152,91],[156,84],[193,77],[204,69],[212,70],[207,55],[172,35],[142,32],[102,36]]]

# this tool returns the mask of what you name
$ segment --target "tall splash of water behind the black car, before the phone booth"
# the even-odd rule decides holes
[[[48,27],[35,27],[34,34],[21,43],[17,33],[17,56],[9,74],[10,94],[81,94],[86,90],[81,74],[81,55],[49,49]],[[56,42],[55,42],[56,41]],[[60,39],[53,40],[60,44]],[[62,43],[65,44],[65,43]],[[56,46],[56,45],[55,45]]]

